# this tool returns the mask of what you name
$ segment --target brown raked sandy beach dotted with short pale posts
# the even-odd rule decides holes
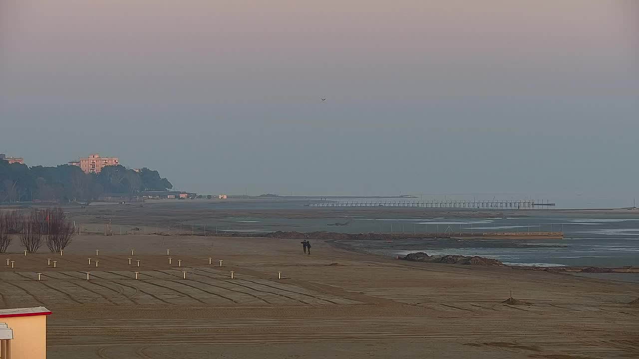
[[[83,235],[63,256],[45,250],[25,257],[14,241],[2,258],[0,301],[52,310],[49,358],[639,354],[639,307],[628,304],[639,296],[633,283],[410,263],[323,241],[305,256],[294,239]],[[502,303],[510,291],[527,304]]]

